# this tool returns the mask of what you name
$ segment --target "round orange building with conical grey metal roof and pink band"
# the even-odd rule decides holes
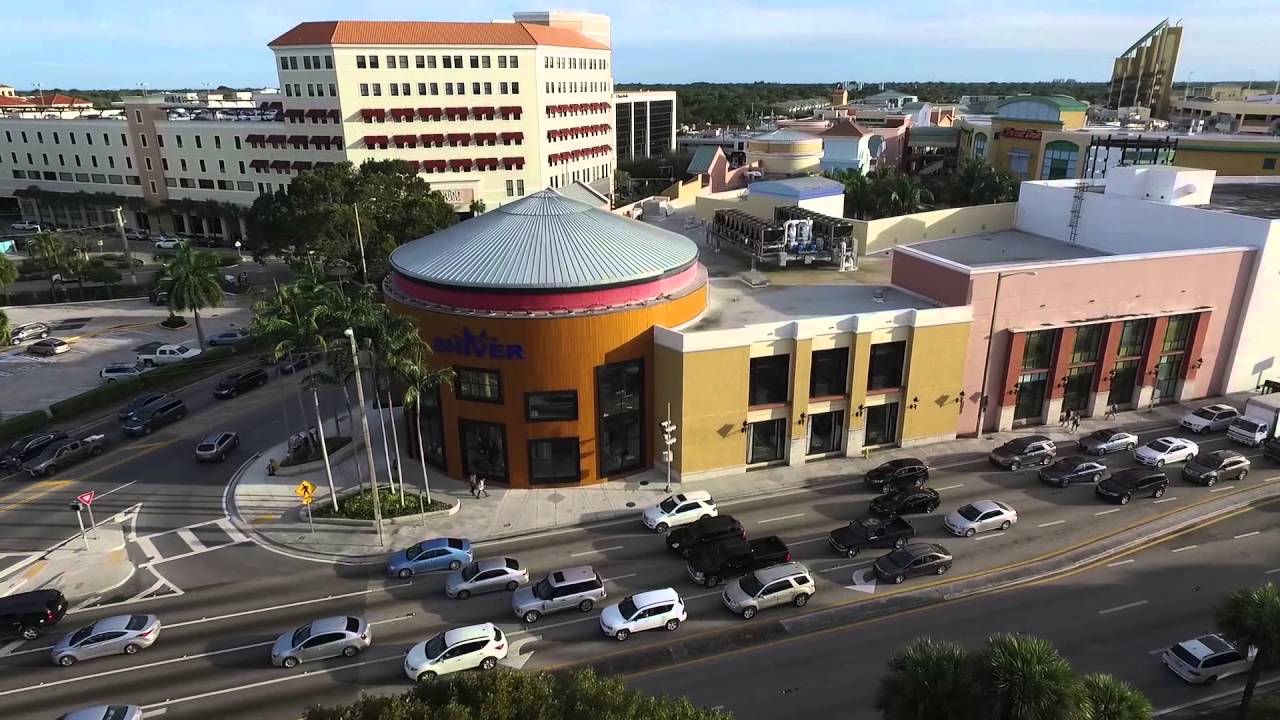
[[[398,247],[390,268],[388,306],[456,372],[424,402],[429,462],[512,487],[653,464],[653,328],[707,307],[692,241],[544,190]]]

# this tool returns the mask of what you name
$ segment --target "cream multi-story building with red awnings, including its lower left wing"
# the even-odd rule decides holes
[[[269,44],[280,94],[193,120],[163,95],[120,118],[0,118],[0,195],[28,219],[243,236],[239,215],[325,164],[406,160],[449,202],[494,208],[616,167],[609,20],[308,22]],[[97,195],[95,195],[97,193]]]

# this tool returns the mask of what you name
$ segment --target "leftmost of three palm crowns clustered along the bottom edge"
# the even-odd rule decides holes
[[[919,638],[890,659],[876,689],[876,708],[884,720],[965,720],[972,697],[964,648]]]

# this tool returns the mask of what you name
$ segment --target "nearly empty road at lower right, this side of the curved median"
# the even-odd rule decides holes
[[[911,639],[927,635],[978,648],[993,633],[1025,632],[1053,642],[1082,671],[1116,674],[1157,706],[1176,705],[1206,691],[1179,680],[1152,651],[1211,630],[1215,602],[1268,578],[1266,571],[1280,565],[1280,541],[1265,530],[1277,524],[1276,506],[1268,505],[1068,578],[677,665],[628,683],[722,706],[742,719],[870,719],[878,717],[879,673]],[[1194,560],[1172,552],[1188,544],[1204,552]],[[1135,602],[1142,605],[1112,610]],[[1231,683],[1222,680],[1216,691]]]

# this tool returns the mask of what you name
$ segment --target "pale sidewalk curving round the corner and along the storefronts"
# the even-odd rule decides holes
[[[1006,433],[989,433],[979,438],[960,438],[925,447],[893,448],[876,452],[869,459],[838,457],[809,462],[800,466],[781,466],[755,470],[748,474],[735,474],[690,483],[673,483],[672,492],[682,489],[705,489],[723,502],[755,496],[768,496],[787,491],[819,487],[859,475],[868,469],[895,457],[923,456],[934,466],[947,468],[980,460],[987,452],[1018,436],[1044,434],[1057,441],[1071,441],[1076,437],[1103,427],[1124,425],[1130,429],[1152,429],[1178,424],[1178,419],[1189,407],[1212,402],[1231,401],[1243,404],[1240,397],[1207,398],[1192,405],[1166,405],[1152,410],[1121,413],[1115,420],[1082,420],[1075,433],[1066,432],[1061,425],[1041,425],[1021,428]],[[372,432],[375,468],[380,486],[387,483],[387,460],[383,451],[381,428],[378,416],[370,416]],[[403,428],[401,428],[403,433]],[[403,441],[403,437],[402,437]],[[302,515],[293,488],[300,480],[308,479],[316,486],[317,506],[329,502],[329,484],[324,470],[296,477],[268,477],[266,462],[270,457],[283,457],[283,445],[252,462],[247,464],[232,479],[233,493],[229,502],[232,520],[242,530],[252,533],[268,544],[311,557],[348,561],[371,561],[381,559],[394,548],[407,547],[429,537],[465,537],[472,542],[498,539],[536,532],[553,530],[613,520],[637,515],[641,509],[662,500],[667,493],[666,475],[652,469],[630,475],[623,480],[602,483],[584,488],[536,488],[516,489],[492,484],[490,496],[479,500],[471,497],[470,487],[462,480],[448,478],[429,470],[431,495],[443,496],[461,503],[457,514],[433,518],[425,525],[393,525],[384,529],[385,543],[379,546],[372,527],[334,528],[316,525],[312,532]],[[392,448],[394,452],[394,447]],[[365,454],[358,454],[361,466]],[[401,468],[404,482],[410,487],[422,488],[422,473],[419,461],[402,455]],[[340,493],[357,482],[353,459],[343,460],[333,466],[334,487]]]

